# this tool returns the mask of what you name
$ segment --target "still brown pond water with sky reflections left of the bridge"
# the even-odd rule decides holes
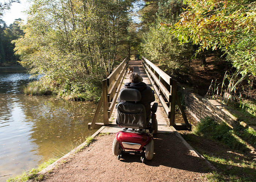
[[[87,127],[94,103],[24,95],[20,87],[29,77],[0,68],[0,181],[56,158],[95,132]]]

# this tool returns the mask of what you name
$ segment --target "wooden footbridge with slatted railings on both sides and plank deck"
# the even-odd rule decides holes
[[[128,57],[125,58],[123,62],[112,72],[112,74],[108,76],[107,79],[102,80],[102,95],[93,120],[88,124],[88,128],[93,130],[99,129],[103,125],[108,125],[108,128],[110,128],[109,130],[113,130],[113,132],[120,130],[120,127],[117,127],[115,124],[117,116],[115,106],[123,84],[129,82],[127,76],[128,66],[133,67],[133,72],[138,72],[138,74],[142,76],[143,82],[145,82],[155,91],[155,95],[157,96],[159,102],[158,111],[156,113],[159,132],[161,132],[161,128],[163,129],[161,126],[173,126],[176,130],[191,130],[191,124],[189,124],[187,120],[180,99],[177,95],[177,81],[144,57],[142,57],[142,60],[130,61]],[[184,123],[175,122],[176,104],[181,111]],[[102,106],[103,123],[97,123],[97,117]],[[165,114],[161,112],[162,110],[165,112]],[[163,131],[169,129],[170,127],[166,127]]]

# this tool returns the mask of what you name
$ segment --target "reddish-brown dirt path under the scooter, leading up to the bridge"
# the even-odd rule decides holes
[[[114,134],[98,136],[83,151],[47,174],[44,181],[207,181],[202,158],[193,154],[175,134],[157,134],[152,161],[139,156],[112,154]]]

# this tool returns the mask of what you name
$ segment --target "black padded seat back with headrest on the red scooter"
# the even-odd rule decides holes
[[[117,104],[117,122],[121,127],[144,129],[147,126],[145,106],[140,103],[140,91],[124,88],[119,95],[120,102]]]

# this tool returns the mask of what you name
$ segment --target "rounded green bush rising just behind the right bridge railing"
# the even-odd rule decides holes
[[[191,57],[192,48],[189,45],[180,45],[178,39],[170,35],[168,29],[159,28],[159,25],[150,27],[144,33],[142,54],[161,65],[169,67],[172,72],[186,70],[186,60]]]

